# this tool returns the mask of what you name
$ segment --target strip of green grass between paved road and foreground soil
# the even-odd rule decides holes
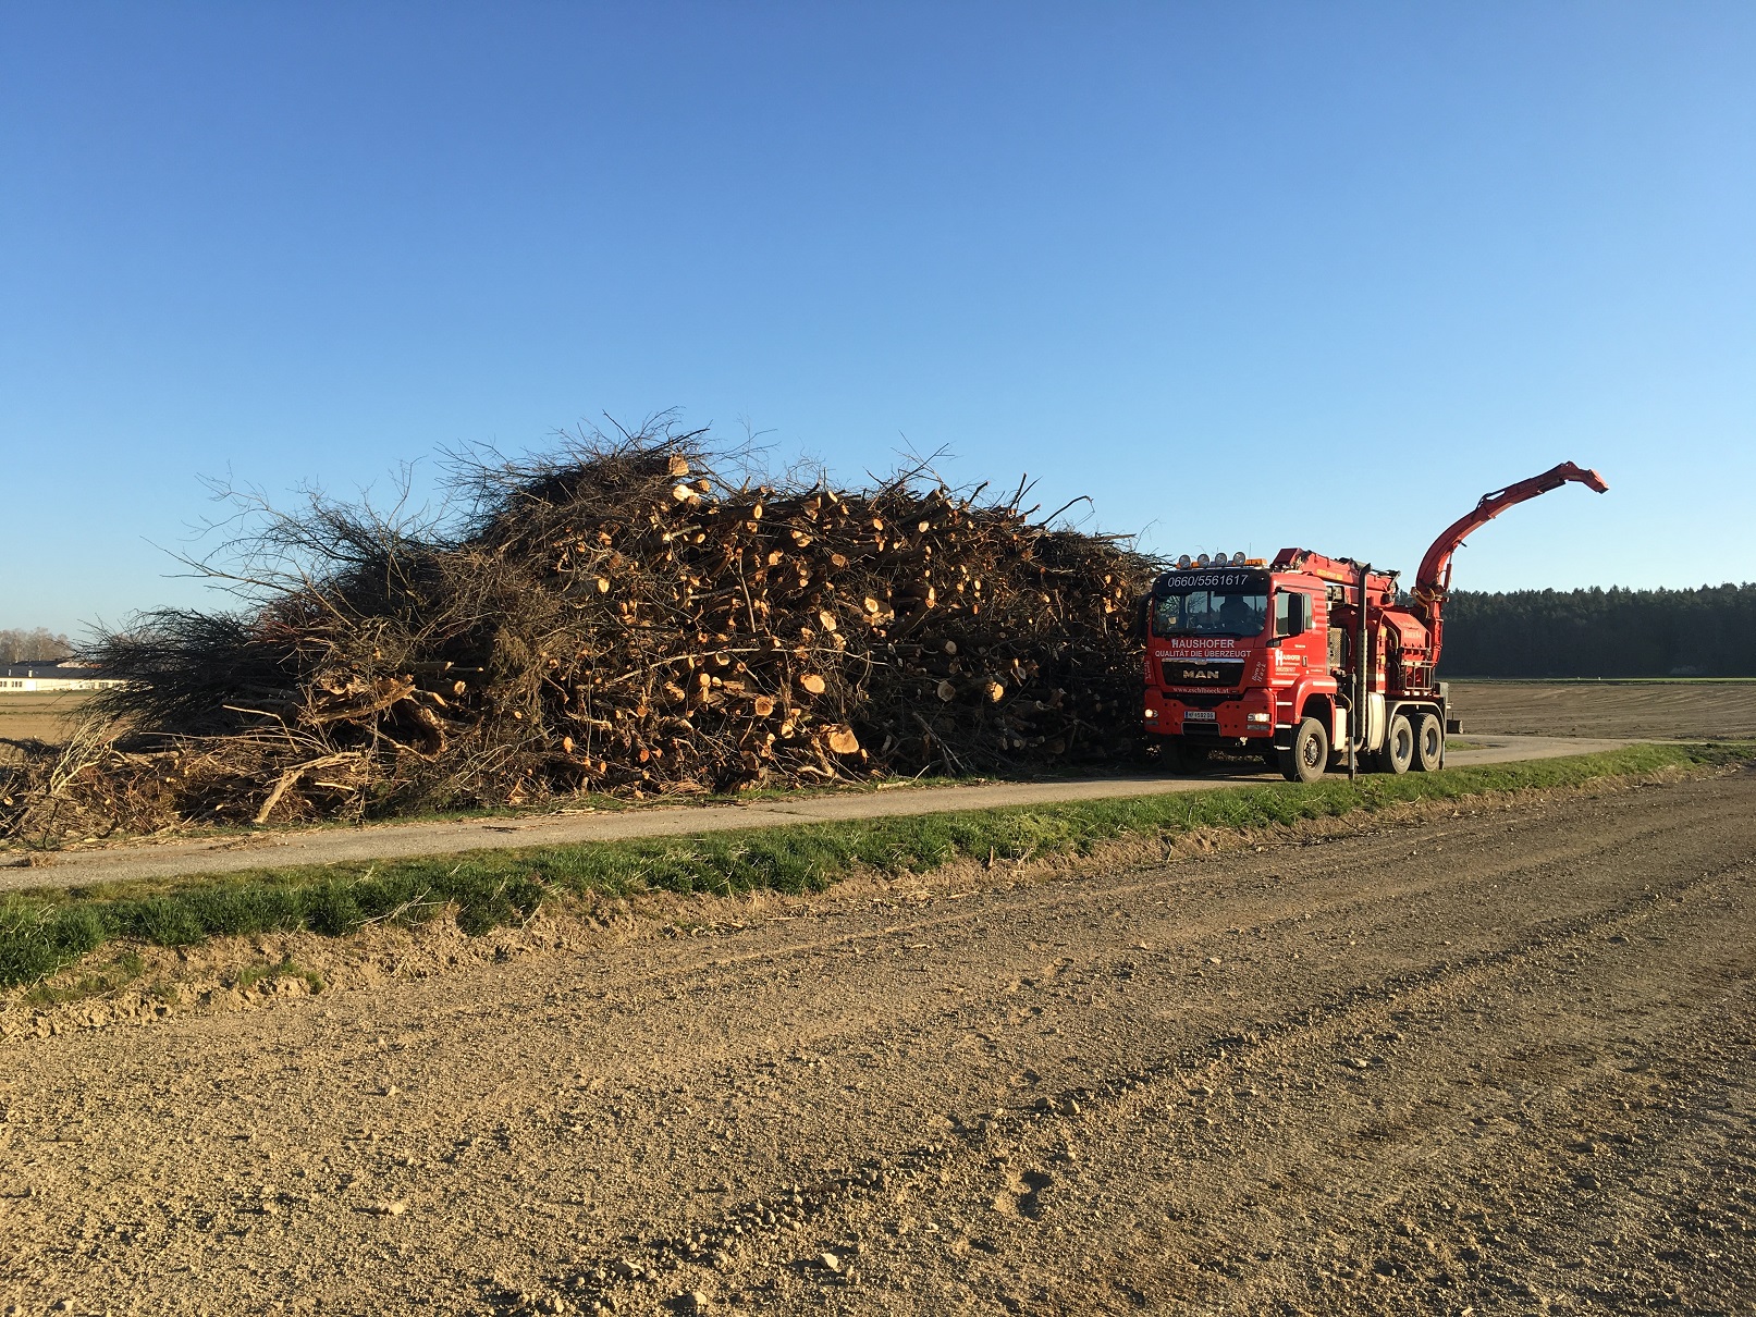
[[[212,936],[432,918],[467,932],[530,918],[544,901],[636,892],[815,892],[857,866],[925,873],[964,857],[1089,853],[1131,836],[1249,831],[1419,801],[1579,787],[1756,757],[1751,745],[1638,745],[1601,755],[1331,778],[1315,785],[1215,787],[1173,795],[899,815],[572,846],[471,852],[362,866],[262,869],[211,878],[30,889],[0,897],[0,987],[35,983],[98,946],[135,939],[188,946]],[[299,973],[297,968],[277,968]]]

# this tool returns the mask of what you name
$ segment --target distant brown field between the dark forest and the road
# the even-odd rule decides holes
[[[1452,681],[1463,734],[1756,738],[1756,681]]]

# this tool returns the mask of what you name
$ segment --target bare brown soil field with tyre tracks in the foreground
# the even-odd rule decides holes
[[[0,1305],[1747,1313],[1752,818],[1745,771],[9,1043]]]

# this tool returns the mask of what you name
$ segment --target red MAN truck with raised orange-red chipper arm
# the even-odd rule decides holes
[[[1433,541],[1407,595],[1398,572],[1301,548],[1273,562],[1178,558],[1141,609],[1147,732],[1180,769],[1213,750],[1261,753],[1289,781],[1340,766],[1442,767],[1445,732],[1457,729],[1435,676],[1450,557],[1507,507],[1568,481],[1608,488],[1563,462],[1482,495]]]

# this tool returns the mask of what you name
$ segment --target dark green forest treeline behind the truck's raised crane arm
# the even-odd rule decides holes
[[[1443,676],[1756,676],[1756,583],[1457,590]]]

